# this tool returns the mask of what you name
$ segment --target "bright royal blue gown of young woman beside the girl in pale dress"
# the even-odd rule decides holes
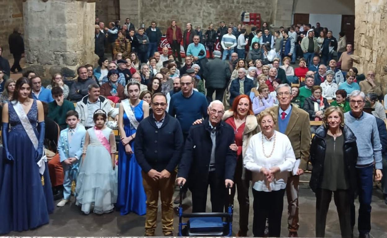
[[[140,122],[144,118],[142,111],[142,100],[134,108],[131,107],[136,120]],[[129,137],[136,133],[136,129],[132,126],[128,116],[124,112],[123,124],[126,136]],[[130,142],[134,151],[135,140]],[[139,215],[146,213],[146,195],[144,186],[142,185],[141,167],[137,163],[135,155],[127,155],[125,147],[120,143],[118,150],[118,199],[117,207],[120,209],[121,215],[135,212]]]

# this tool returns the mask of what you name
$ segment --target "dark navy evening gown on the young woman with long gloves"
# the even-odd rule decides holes
[[[47,163],[42,186],[39,167],[35,161],[34,145],[10,102],[8,110],[10,124],[8,149],[14,161],[3,160],[0,168],[0,234],[29,230],[47,224],[48,214],[54,211]],[[38,137],[36,100],[27,117]]]

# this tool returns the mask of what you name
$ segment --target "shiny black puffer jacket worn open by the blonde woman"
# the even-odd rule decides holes
[[[356,190],[356,162],[358,158],[358,147],[356,146],[356,137],[347,127],[344,125],[344,128],[341,128],[344,135],[344,168],[346,178],[349,181],[350,191],[354,192]],[[322,176],[324,174],[324,160],[325,160],[325,150],[327,143],[325,142],[325,136],[327,135],[328,128],[325,128],[324,125],[321,125],[315,131],[315,136],[312,139],[312,144],[310,145],[310,162],[313,165],[312,176],[310,177],[309,186],[316,192],[316,189],[321,187]]]

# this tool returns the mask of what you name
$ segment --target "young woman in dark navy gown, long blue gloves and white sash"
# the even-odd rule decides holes
[[[12,101],[3,106],[0,234],[47,224],[54,210],[47,162],[41,159],[43,105],[31,98],[31,88],[29,79],[19,78]]]

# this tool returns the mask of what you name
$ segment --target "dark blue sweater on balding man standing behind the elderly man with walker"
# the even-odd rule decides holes
[[[202,93],[193,91],[188,98],[182,92],[174,93],[171,97],[168,113],[176,116],[184,134],[188,134],[192,123],[207,117],[208,102]]]

